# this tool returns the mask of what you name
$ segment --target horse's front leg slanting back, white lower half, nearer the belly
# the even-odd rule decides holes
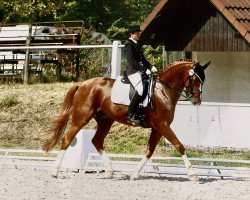
[[[140,175],[141,170],[143,169],[143,167],[145,166],[145,164],[147,163],[149,158],[153,155],[155,147],[158,144],[161,136],[162,135],[160,133],[158,133],[157,131],[152,129],[151,135],[150,135],[149,140],[148,140],[148,146],[147,146],[146,154],[142,158],[140,163],[137,165],[135,171],[133,172],[133,174],[131,176],[132,180],[139,179],[139,175]]]

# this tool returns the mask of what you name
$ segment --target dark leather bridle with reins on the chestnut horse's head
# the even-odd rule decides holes
[[[161,83],[162,85],[175,90],[176,92],[178,92],[181,96],[183,96],[186,100],[189,100],[194,94],[201,94],[202,93],[202,86],[205,82],[205,80],[202,80],[200,75],[198,73],[195,72],[195,67],[196,65],[193,66],[192,69],[189,70],[189,75],[188,78],[186,79],[186,81],[184,82],[184,84],[186,85],[187,81],[187,87],[185,87],[184,89],[180,88],[180,87],[176,87],[172,84],[169,84],[167,82],[164,82],[162,80],[160,80],[159,78],[155,77],[156,81]],[[199,90],[194,90],[192,85],[193,85],[193,77],[196,76],[199,81],[200,81],[200,88]]]

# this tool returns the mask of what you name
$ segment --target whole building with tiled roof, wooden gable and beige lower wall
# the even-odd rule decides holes
[[[203,101],[250,103],[250,0],[161,0],[141,29],[144,44],[211,60]]]

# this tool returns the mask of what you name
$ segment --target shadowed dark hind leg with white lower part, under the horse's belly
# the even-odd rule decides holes
[[[111,165],[110,158],[108,157],[107,153],[104,150],[104,139],[107,136],[112,124],[114,123],[114,120],[104,116],[104,115],[98,115],[96,118],[97,122],[97,131],[95,133],[95,136],[92,139],[92,143],[101,155],[104,166],[106,168],[106,176],[107,178],[113,177],[113,168]]]

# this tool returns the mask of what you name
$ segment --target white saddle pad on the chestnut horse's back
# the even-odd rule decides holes
[[[122,105],[129,105],[130,99],[129,99],[129,90],[130,90],[130,84],[123,83],[122,76],[118,76],[115,80],[115,83],[113,85],[112,91],[111,91],[111,101],[116,104],[122,104]],[[148,105],[149,98],[148,95],[143,101],[143,107],[146,107]]]

